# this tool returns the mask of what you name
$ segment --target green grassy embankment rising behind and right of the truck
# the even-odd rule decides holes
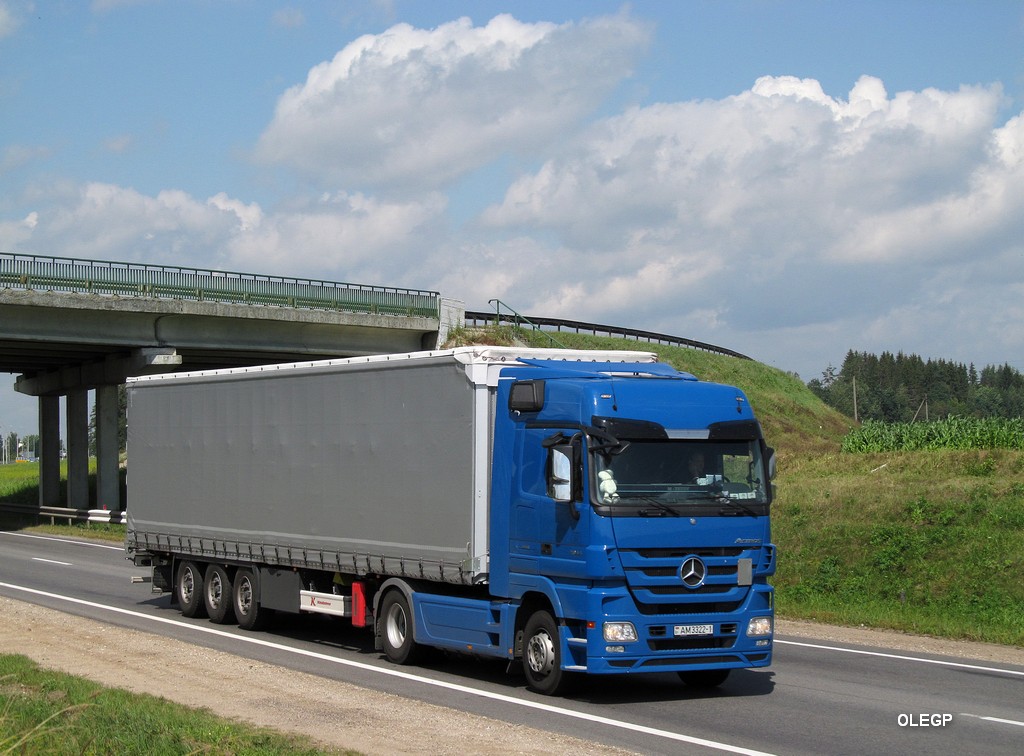
[[[695,349],[557,338],[655,351],[744,390],[778,455],[780,617],[1024,645],[1024,453],[842,454],[854,422],[782,371]]]

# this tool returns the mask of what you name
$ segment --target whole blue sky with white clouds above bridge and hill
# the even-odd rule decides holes
[[[1024,369],[1022,2],[0,0],[0,114],[5,252]]]

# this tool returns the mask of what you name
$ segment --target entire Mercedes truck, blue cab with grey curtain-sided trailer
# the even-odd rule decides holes
[[[347,618],[398,664],[714,685],[770,664],[774,455],[652,353],[463,347],[128,383],[126,549],[189,617]]]

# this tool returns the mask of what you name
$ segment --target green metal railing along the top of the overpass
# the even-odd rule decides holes
[[[434,291],[8,252],[0,252],[0,287],[440,317],[440,294]]]

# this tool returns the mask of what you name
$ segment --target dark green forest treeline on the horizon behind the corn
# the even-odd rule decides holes
[[[851,349],[839,370],[829,365],[807,385],[825,404],[859,420],[1024,417],[1024,374],[1009,364],[979,371],[974,364]]]

